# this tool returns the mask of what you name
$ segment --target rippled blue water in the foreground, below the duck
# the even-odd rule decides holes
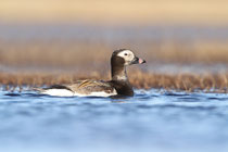
[[[228,94],[136,90],[128,99],[0,91],[0,151],[225,152]]]

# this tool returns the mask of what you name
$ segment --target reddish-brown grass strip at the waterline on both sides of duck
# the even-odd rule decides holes
[[[78,79],[109,79],[109,75],[93,72],[90,74],[0,74],[0,84],[4,90],[14,91],[24,88],[50,86],[54,84],[72,84]],[[130,73],[130,83],[140,89],[166,89],[206,92],[228,92],[228,74],[151,74],[140,71]]]

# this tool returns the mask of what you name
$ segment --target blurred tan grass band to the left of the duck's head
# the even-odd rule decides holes
[[[0,43],[0,64],[15,66],[86,66],[109,61],[110,48],[90,42],[9,42]],[[94,55],[96,53],[96,55]]]

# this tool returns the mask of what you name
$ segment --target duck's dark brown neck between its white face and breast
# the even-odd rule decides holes
[[[124,65],[112,65],[112,80],[128,81],[126,67]]]

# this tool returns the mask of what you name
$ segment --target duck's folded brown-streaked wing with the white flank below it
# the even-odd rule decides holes
[[[74,91],[76,96],[109,97],[117,94],[115,88],[110,83],[102,80],[78,80],[66,87]]]

